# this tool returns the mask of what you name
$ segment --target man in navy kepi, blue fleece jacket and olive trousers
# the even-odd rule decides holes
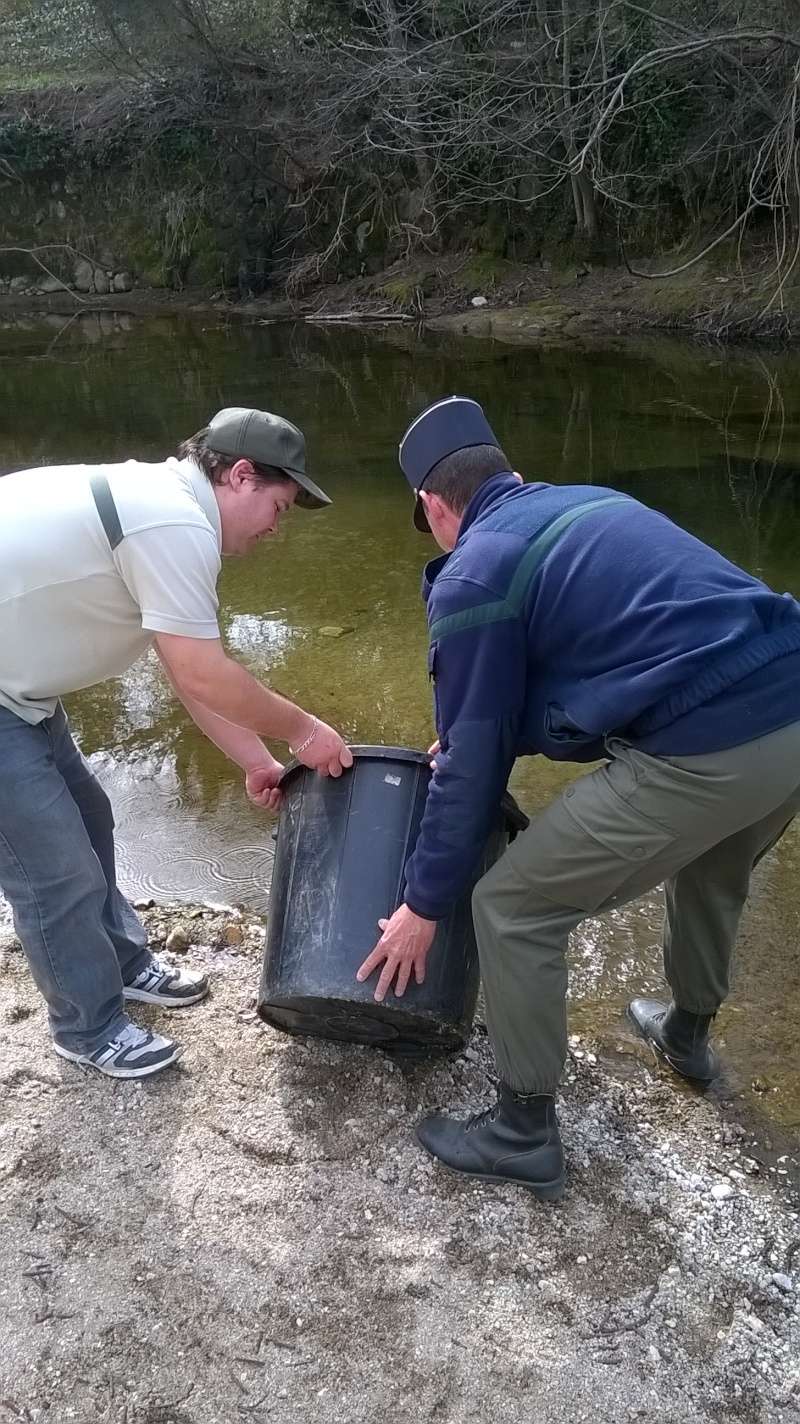
[[[602,759],[474,891],[497,1104],[419,1128],[447,1166],[552,1198],[582,918],[665,883],[672,1001],[629,1012],[678,1072],[716,1072],[750,873],[800,809],[800,605],[615,490],[522,484],[473,400],[423,412],[400,464],[444,550],[424,577],[438,749],[404,904],[359,978],[380,968],[377,1000],[423,981],[517,756]]]

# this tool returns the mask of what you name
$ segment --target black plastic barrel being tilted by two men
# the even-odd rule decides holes
[[[423,752],[404,748],[350,750],[353,766],[340,778],[298,763],[283,776],[259,1014],[289,1034],[401,1054],[460,1048],[478,994],[473,886],[438,923],[424,984],[376,1004],[379,973],[356,980],[380,937],[379,918],[403,900],[430,768]],[[504,797],[473,884],[525,824]]]

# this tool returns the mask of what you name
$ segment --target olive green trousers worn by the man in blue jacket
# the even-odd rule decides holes
[[[727,752],[611,760],[569,785],[478,881],[473,914],[500,1075],[554,1092],[567,1057],[567,950],[588,916],[666,887],[663,965],[713,1014],[750,873],[800,810],[800,722]]]

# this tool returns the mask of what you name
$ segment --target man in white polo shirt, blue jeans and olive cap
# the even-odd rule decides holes
[[[155,645],[185,708],[275,806],[286,742],[323,776],[352,765],[333,728],[263,686],[222,646],[221,555],[246,554],[292,504],[322,508],[296,426],[221,410],[161,464],[63,466],[0,480],[0,889],[47,1000],[56,1052],[142,1078],[181,1048],[127,1000],[177,1007],[205,975],[151,954],[117,887],[114,819],[60,698]]]

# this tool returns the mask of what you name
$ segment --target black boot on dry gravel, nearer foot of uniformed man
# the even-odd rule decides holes
[[[564,1193],[564,1151],[549,1095],[512,1092],[500,1084],[494,1108],[467,1122],[437,1112],[420,1122],[417,1138],[453,1172],[517,1182],[547,1200]]]

